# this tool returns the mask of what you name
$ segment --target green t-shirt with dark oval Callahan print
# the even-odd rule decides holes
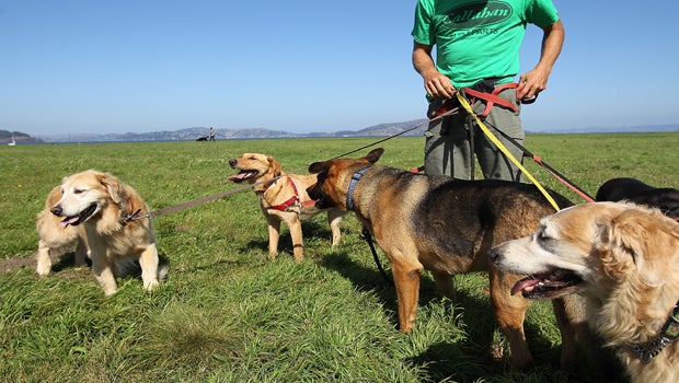
[[[559,21],[551,0],[419,0],[411,35],[436,46],[436,67],[456,88],[480,80],[513,81],[528,23]]]

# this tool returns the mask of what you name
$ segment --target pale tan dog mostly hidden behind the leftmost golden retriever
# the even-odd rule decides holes
[[[85,264],[87,245],[85,233],[82,227],[60,228],[60,219],[49,211],[61,198],[61,186],[54,187],[47,200],[45,209],[37,214],[35,229],[41,240],[37,243],[37,267],[39,276],[47,276],[51,272],[51,259],[64,255],[67,252],[76,251],[73,264],[76,267]]]

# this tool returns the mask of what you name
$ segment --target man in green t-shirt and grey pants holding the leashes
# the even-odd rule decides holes
[[[540,61],[520,76],[518,88],[507,86],[497,94],[515,107],[494,104],[484,117],[485,125],[502,130],[519,144],[523,142],[520,103],[537,97],[546,88],[563,46],[564,27],[552,1],[419,0],[412,32],[413,66],[424,80],[428,117],[446,100],[453,98],[457,90],[471,86],[488,93],[494,86],[511,83],[519,73],[519,48],[529,23],[543,31]],[[476,98],[474,113],[482,113],[485,104]],[[469,179],[475,153],[485,178],[521,181],[517,166],[481,130],[470,130],[473,126],[465,113],[431,120],[425,132],[425,172]],[[496,136],[521,161],[522,150],[502,135]]]

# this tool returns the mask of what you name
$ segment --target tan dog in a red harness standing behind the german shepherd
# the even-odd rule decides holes
[[[271,259],[278,255],[280,222],[285,222],[290,231],[295,259],[303,259],[301,221],[322,211],[327,211],[327,223],[333,235],[332,245],[340,243],[342,236],[340,222],[342,222],[345,212],[340,209],[319,209],[315,207],[314,201],[307,194],[307,188],[317,182],[315,174],[287,174],[281,170],[278,161],[260,153],[245,153],[237,159],[229,160],[229,164],[232,169],[239,170],[237,175],[229,177],[235,183],[246,181],[254,184],[272,181],[253,188],[268,224],[268,257]]]

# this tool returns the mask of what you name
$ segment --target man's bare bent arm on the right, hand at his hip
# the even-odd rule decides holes
[[[552,72],[552,67],[561,54],[566,33],[561,20],[542,28],[542,50],[540,61],[532,70],[521,74],[517,97],[532,98],[546,89],[546,81]]]

